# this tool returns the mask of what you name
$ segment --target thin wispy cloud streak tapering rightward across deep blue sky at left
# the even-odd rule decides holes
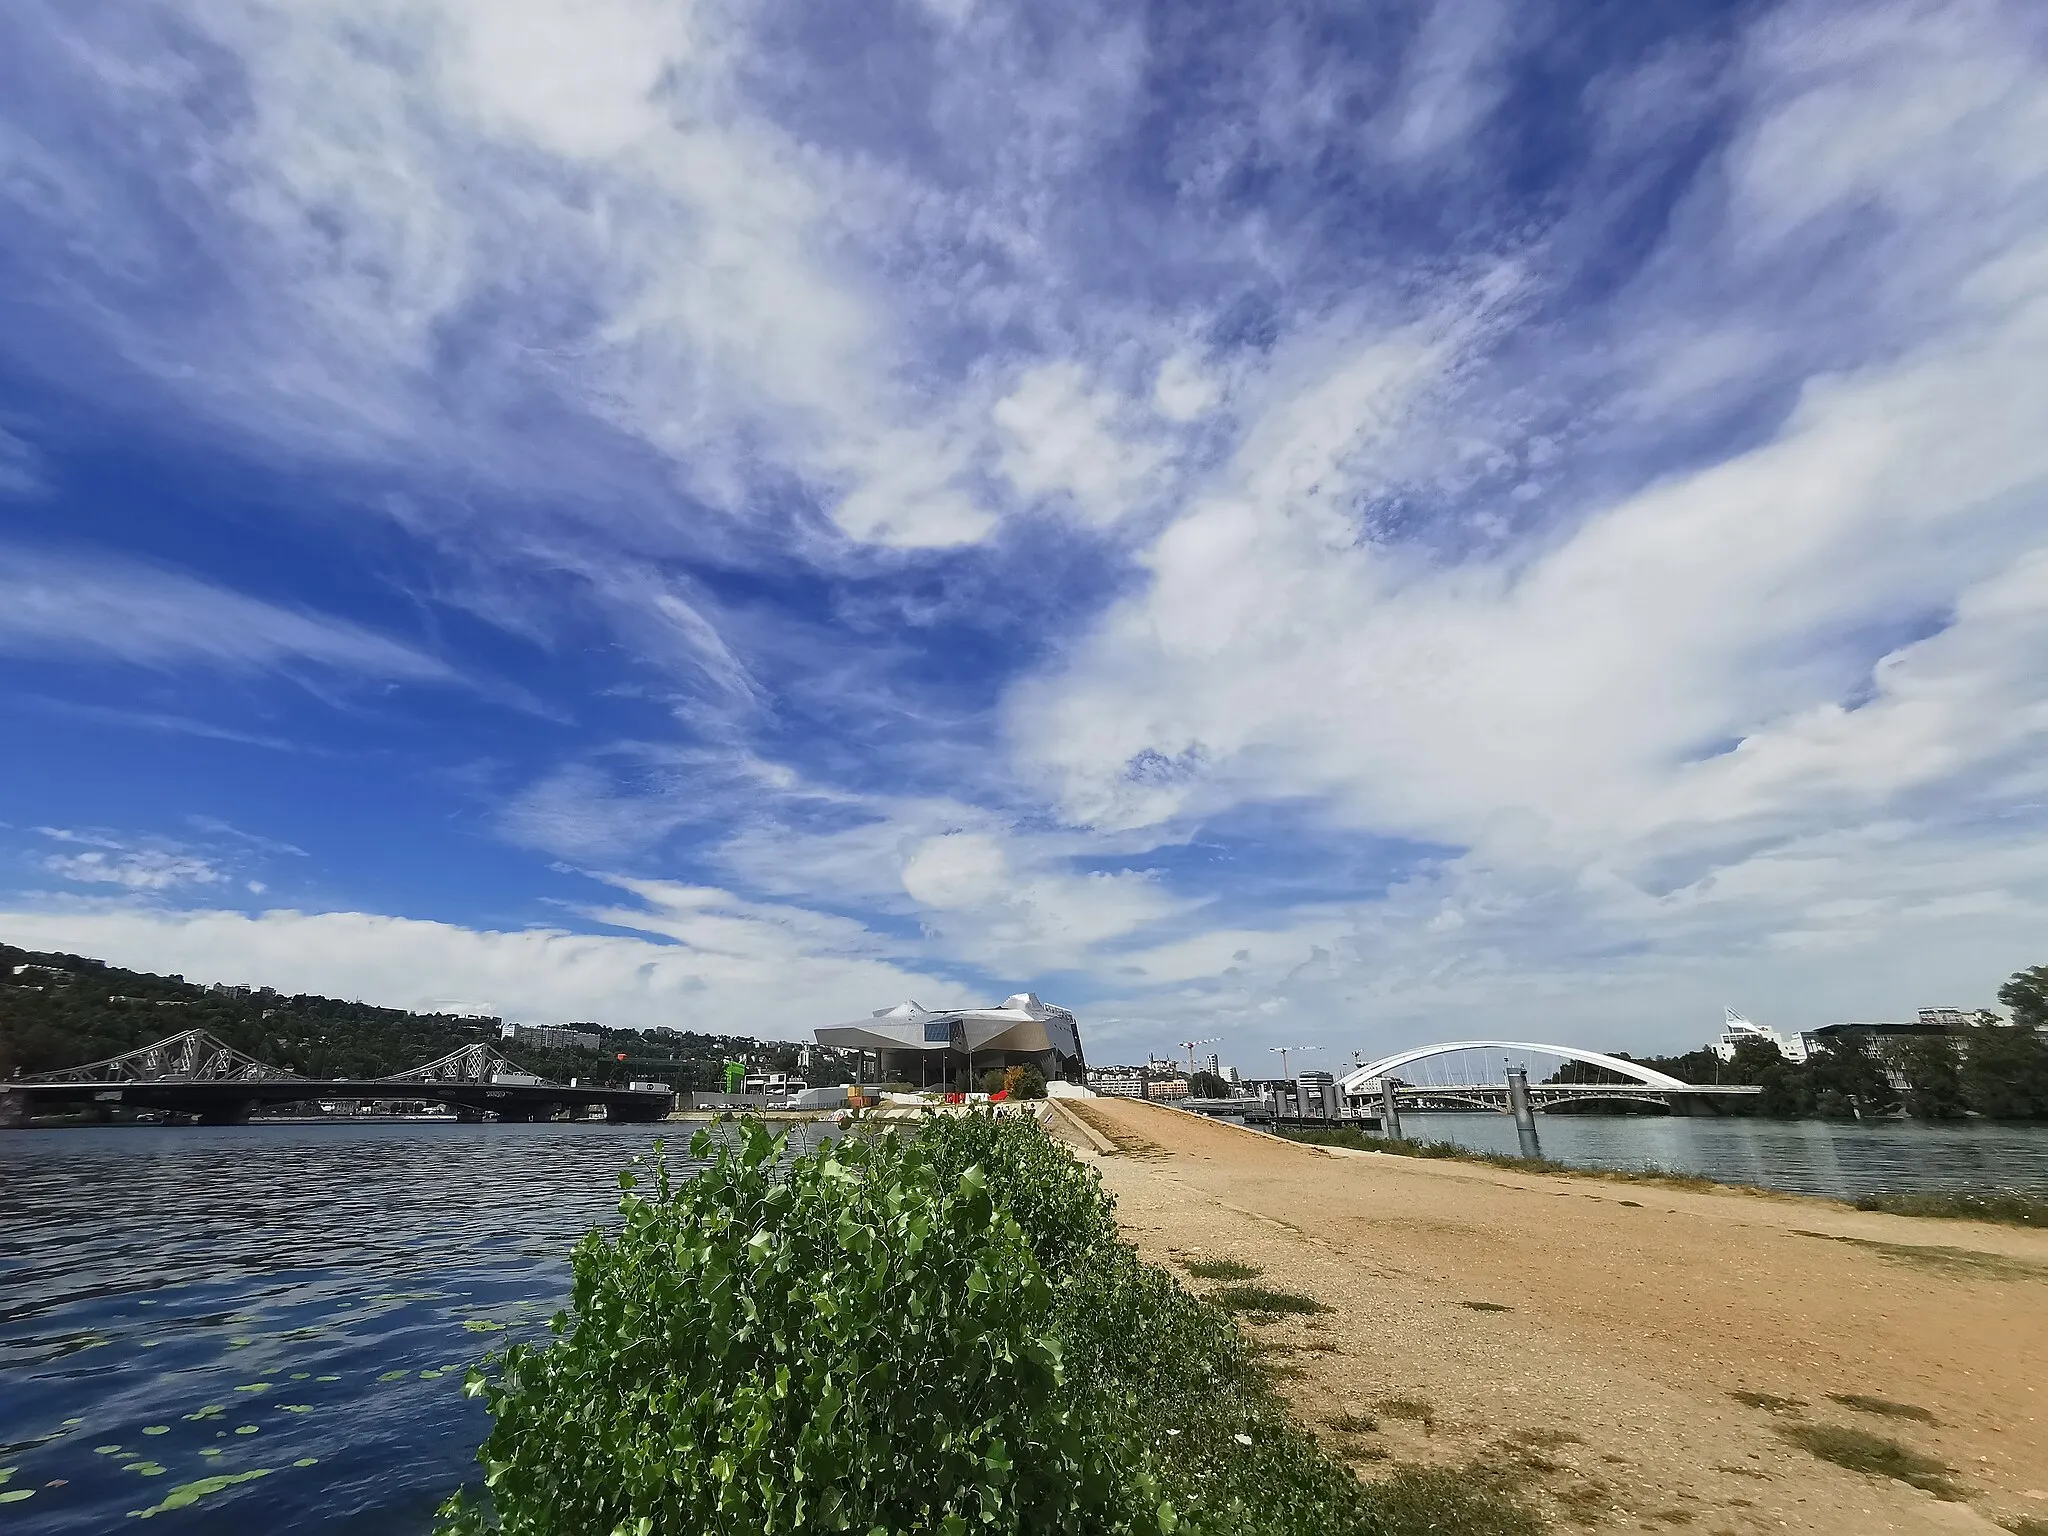
[[[283,672],[307,664],[455,682],[422,651],[342,618],[283,608],[178,571],[0,545],[0,653]]]

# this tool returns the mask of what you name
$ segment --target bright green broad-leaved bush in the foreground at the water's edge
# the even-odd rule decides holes
[[[485,1464],[498,1528],[1159,1530],[1153,1479],[1063,1391],[1053,1292],[975,1169],[918,1143],[780,1161],[758,1126],[657,1165],[573,1257],[573,1321],[514,1346]],[[451,1501],[446,1530],[485,1528]]]

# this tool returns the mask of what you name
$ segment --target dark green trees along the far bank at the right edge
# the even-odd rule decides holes
[[[1911,1114],[1921,1120],[2048,1120],[2048,965],[1999,987],[2011,1010],[1978,1014],[1946,1034],[1843,1036],[1788,1061],[1769,1040],[1743,1040],[1733,1061],[1712,1051],[1647,1061],[1690,1083],[1755,1083],[1753,1114],[1853,1118]]]

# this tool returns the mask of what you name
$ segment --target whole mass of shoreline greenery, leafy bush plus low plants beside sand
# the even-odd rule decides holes
[[[485,1491],[440,1536],[1542,1530],[1483,1470],[1360,1481],[1034,1120],[784,1151],[739,1122],[692,1139],[688,1180],[621,1176],[553,1339],[467,1378]]]

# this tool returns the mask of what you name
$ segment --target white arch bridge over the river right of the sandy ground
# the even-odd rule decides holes
[[[1616,1102],[1659,1104],[1679,1112],[1710,1110],[1716,1098],[1763,1090],[1747,1083],[1688,1083],[1626,1057],[1538,1040],[1442,1040],[1354,1065],[1337,1077],[1346,1102],[1378,1102],[1391,1087],[1411,1108],[1505,1110],[1507,1073],[1526,1071],[1530,1106]]]

